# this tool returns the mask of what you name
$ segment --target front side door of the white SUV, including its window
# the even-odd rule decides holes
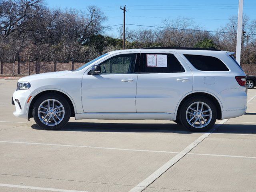
[[[136,112],[136,56],[136,53],[115,55],[98,64],[100,74],[84,74],[84,112]]]

